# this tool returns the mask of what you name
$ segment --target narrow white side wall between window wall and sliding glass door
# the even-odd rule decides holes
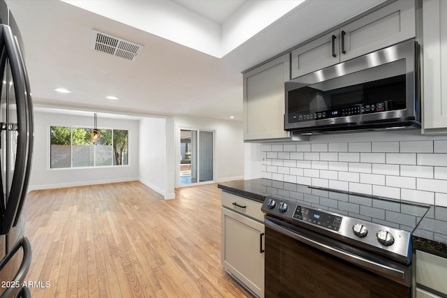
[[[157,193],[166,193],[166,119],[140,120],[140,181]]]

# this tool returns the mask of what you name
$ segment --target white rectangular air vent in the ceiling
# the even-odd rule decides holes
[[[135,61],[142,45],[93,30],[91,32],[91,48],[98,52]]]

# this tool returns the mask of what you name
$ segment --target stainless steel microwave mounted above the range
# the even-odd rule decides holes
[[[293,135],[420,128],[418,43],[406,40],[285,83]]]

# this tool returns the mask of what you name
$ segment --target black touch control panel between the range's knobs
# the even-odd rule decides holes
[[[342,217],[325,213],[321,210],[314,210],[298,205],[293,214],[293,218],[320,225],[323,228],[338,231],[342,224]]]

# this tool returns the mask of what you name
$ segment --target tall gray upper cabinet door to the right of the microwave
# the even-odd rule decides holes
[[[447,133],[447,1],[423,1],[423,133]]]

